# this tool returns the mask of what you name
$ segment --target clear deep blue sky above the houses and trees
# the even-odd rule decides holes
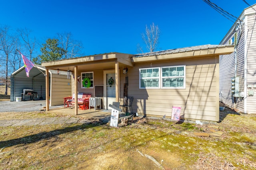
[[[211,2],[236,17],[248,7],[243,0]],[[84,55],[136,54],[152,22],[160,28],[157,50],[219,44],[233,25],[203,0],[2,0],[0,7],[0,25],[31,29],[42,43],[71,32]]]

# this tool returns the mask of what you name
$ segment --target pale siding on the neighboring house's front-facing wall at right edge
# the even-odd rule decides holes
[[[256,85],[256,31],[255,15],[248,16],[248,39],[247,39],[247,85]],[[255,89],[255,88],[254,88]],[[247,90],[248,91],[248,90]],[[256,114],[256,92],[254,96],[248,96],[247,113]]]

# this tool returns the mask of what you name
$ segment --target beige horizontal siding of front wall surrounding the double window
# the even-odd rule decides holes
[[[139,89],[139,68],[184,64],[186,89]],[[170,117],[172,106],[179,106],[184,119],[218,121],[218,69],[218,57],[136,64],[128,68],[128,96],[134,96],[133,111]],[[121,95],[124,83],[125,76],[121,76]]]

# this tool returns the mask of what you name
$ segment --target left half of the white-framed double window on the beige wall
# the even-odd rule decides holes
[[[140,68],[140,88],[160,88],[160,68]]]

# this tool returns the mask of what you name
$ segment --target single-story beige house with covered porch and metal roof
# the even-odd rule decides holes
[[[47,77],[49,70],[72,72],[69,95],[75,94],[76,106],[78,93],[101,94],[105,109],[112,102],[122,104],[124,96],[133,96],[134,113],[170,117],[172,106],[179,106],[182,119],[219,121],[219,55],[233,51],[234,45],[201,45],[137,55],[106,53],[42,66]],[[84,83],[86,79],[90,85]],[[77,107],[74,112],[78,114]]]

